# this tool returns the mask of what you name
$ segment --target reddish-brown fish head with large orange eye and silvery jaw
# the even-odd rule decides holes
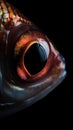
[[[0,117],[44,98],[65,77],[65,58],[48,36],[0,0]]]

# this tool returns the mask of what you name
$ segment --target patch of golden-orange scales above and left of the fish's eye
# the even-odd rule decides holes
[[[0,0],[0,30],[12,28],[22,22],[31,23],[29,20],[22,18],[9,3]]]

